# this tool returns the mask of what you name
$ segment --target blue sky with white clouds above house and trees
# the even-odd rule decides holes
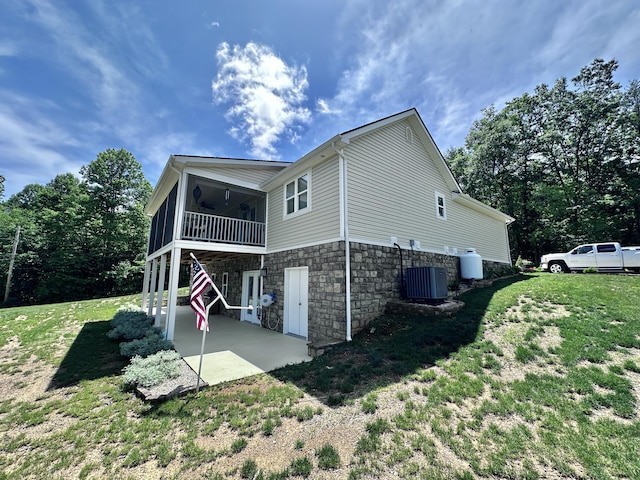
[[[2,0],[5,199],[125,148],[294,161],[416,107],[444,152],[489,105],[615,58],[640,78],[636,0]]]

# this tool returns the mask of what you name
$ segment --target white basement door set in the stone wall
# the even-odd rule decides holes
[[[307,339],[309,333],[309,267],[284,270],[284,333]]]

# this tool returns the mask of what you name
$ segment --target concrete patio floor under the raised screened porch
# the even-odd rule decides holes
[[[173,344],[197,373],[202,332],[196,328],[195,314],[189,306],[179,306],[176,311]],[[306,340],[224,315],[211,315],[200,377],[216,385],[309,360]]]

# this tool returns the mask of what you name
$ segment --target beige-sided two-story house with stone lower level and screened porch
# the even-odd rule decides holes
[[[415,109],[292,163],[172,155],[146,211],[143,303],[151,312],[168,285],[169,339],[190,253],[230,305],[255,307],[221,313],[259,324],[273,294],[278,331],[309,342],[350,340],[398,299],[401,255],[445,267],[450,283],[469,247],[486,268],[511,264],[513,218],[461,191]]]

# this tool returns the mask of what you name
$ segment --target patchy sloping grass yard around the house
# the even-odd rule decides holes
[[[528,274],[303,365],[147,404],[135,297],[0,310],[0,479],[640,478],[640,277]]]

